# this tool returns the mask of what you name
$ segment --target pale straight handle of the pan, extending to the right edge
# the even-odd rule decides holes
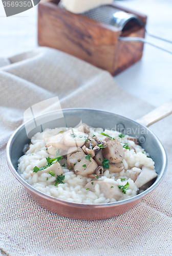
[[[149,112],[145,116],[136,121],[148,127],[149,125],[161,120],[162,118],[172,114],[172,100],[164,103],[155,110]]]

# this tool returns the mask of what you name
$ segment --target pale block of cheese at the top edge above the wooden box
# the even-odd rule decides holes
[[[83,13],[101,5],[111,4],[113,0],[61,0],[62,5],[70,12]]]

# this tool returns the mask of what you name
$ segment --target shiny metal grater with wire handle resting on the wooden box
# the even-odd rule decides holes
[[[61,2],[59,2],[58,6],[60,8],[64,8],[63,5],[61,4]],[[141,20],[139,19],[138,16],[136,16],[132,13],[126,13],[124,11],[121,11],[119,9],[116,9],[116,8],[114,8],[112,6],[108,6],[108,5],[104,5],[104,6],[94,8],[94,9],[92,9],[90,11],[87,11],[87,12],[84,12],[80,15],[82,15],[84,17],[88,17],[88,18],[93,19],[93,20],[96,20],[97,22],[104,23],[106,25],[112,25],[112,26],[118,28],[119,30],[123,30],[125,25],[127,25],[131,21],[133,22],[133,24],[135,23],[135,24],[138,24],[142,27],[145,27],[145,25],[141,22]],[[146,27],[145,27],[145,31],[149,36],[152,36],[152,37],[158,38],[160,40],[172,43],[172,41],[170,41],[170,40],[167,40],[165,38],[155,36],[155,35],[152,35],[152,34],[148,33]],[[160,47],[156,44],[153,44],[152,42],[149,42],[146,39],[141,38],[141,37],[120,36],[118,39],[121,40],[121,41],[144,42],[146,44],[152,45],[156,48],[159,48],[163,51],[166,51],[166,52],[172,54],[172,51],[170,51],[166,48]]]

